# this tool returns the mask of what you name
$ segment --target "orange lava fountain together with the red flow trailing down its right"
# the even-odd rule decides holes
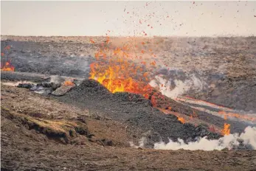
[[[92,41],[91,41],[92,42]],[[105,86],[108,91],[129,92],[141,94],[148,100],[155,108],[160,110],[171,111],[170,102],[167,97],[162,95],[159,91],[149,85],[151,80],[150,69],[156,67],[155,59],[153,61],[142,61],[143,55],[154,55],[152,50],[139,49],[138,45],[123,44],[117,47],[111,47],[111,40],[108,37],[107,41],[102,43],[100,50],[95,52],[95,62],[91,63],[90,79],[97,80],[100,84]],[[145,46],[146,43],[139,43]],[[137,53],[134,52],[137,49]],[[156,57],[156,55],[154,55]],[[136,64],[131,63],[131,60],[137,60]],[[149,69],[148,69],[149,68]],[[178,113],[170,112],[178,117],[181,123],[185,119],[180,117]]]

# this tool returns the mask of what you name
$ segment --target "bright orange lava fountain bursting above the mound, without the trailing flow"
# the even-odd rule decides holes
[[[130,60],[138,58],[132,50],[134,44],[126,42],[113,46],[111,43],[109,37],[100,43],[100,49],[94,55],[96,62],[90,65],[89,78],[97,80],[112,93],[125,91],[144,95],[150,76],[142,67],[145,62],[140,63],[142,65],[131,63]]]

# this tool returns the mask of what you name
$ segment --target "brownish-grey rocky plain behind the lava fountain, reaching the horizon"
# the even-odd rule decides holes
[[[88,78],[89,65],[105,37],[1,36],[1,40],[1,52],[7,56],[1,58],[1,63],[12,60],[15,71]],[[200,91],[190,88],[184,92],[190,97],[242,111],[256,111],[252,93],[256,91],[255,37],[110,40],[113,47],[130,44],[132,54],[143,49],[139,61],[148,59],[153,52],[160,71],[154,72],[155,75],[161,73],[170,79],[173,71],[181,71],[176,79],[182,81],[189,80],[191,74],[196,75],[203,86]],[[4,49],[6,46],[11,49]]]

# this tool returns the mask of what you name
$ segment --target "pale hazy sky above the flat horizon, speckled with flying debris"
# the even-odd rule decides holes
[[[1,35],[256,35],[255,15],[256,1],[1,1]]]

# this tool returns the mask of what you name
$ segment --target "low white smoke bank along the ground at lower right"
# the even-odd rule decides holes
[[[197,142],[184,143],[182,139],[178,139],[178,142],[159,142],[154,144],[154,149],[161,150],[223,150],[224,148],[235,149],[235,148],[246,148],[256,150],[256,128],[247,127],[243,133],[238,135],[229,134],[221,137],[220,139],[208,140],[207,137],[198,139]]]

